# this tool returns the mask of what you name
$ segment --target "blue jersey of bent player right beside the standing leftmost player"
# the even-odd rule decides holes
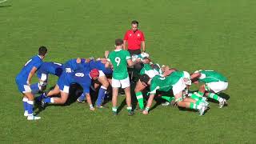
[[[62,64],[56,62],[43,62],[42,66],[38,69],[38,78],[41,78],[42,74],[53,74],[60,76],[62,74]]]

